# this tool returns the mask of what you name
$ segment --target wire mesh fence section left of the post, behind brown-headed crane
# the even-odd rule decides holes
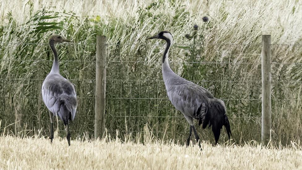
[[[57,48],[60,73],[76,88],[78,114],[72,130],[80,137],[85,131],[93,132],[95,45],[61,44]],[[50,48],[47,44],[15,43],[2,48],[0,56],[2,125],[11,124],[6,128],[9,133],[33,135],[33,129],[42,129],[41,134],[49,135],[50,118],[41,85],[53,63]],[[59,129],[64,129],[61,121]]]

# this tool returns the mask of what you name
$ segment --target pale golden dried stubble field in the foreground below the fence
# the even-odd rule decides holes
[[[301,147],[0,137],[0,169],[302,169]]]

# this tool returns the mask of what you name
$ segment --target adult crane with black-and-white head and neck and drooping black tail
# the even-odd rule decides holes
[[[162,58],[162,77],[166,86],[168,97],[174,107],[179,110],[190,124],[189,137],[187,145],[190,144],[192,129],[199,144],[199,136],[193,124],[197,119],[198,125],[202,124],[205,129],[207,125],[212,126],[215,145],[220,136],[220,130],[224,125],[227,135],[230,139],[231,128],[226,116],[226,107],[224,102],[214,96],[205,88],[188,81],[175,74],[169,66],[169,49],[173,43],[173,36],[168,31],[162,31],[153,37],[147,39],[162,39],[166,41],[166,49]]]

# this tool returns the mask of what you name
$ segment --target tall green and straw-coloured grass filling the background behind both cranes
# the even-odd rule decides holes
[[[135,137],[147,124],[154,137],[184,141],[188,124],[167,100],[162,81],[164,43],[145,41],[169,30],[175,40],[171,68],[225,101],[235,143],[260,141],[261,34],[271,34],[272,138],[283,145],[300,141],[301,7],[296,0],[5,0],[0,4],[0,120],[4,127],[11,124],[8,133],[33,135],[42,129],[49,134],[40,89],[53,59],[47,38],[59,33],[74,42],[57,46],[60,72],[75,84],[79,100],[72,137],[92,135],[95,42],[104,34],[108,132],[114,136],[118,129],[122,139],[126,132]],[[209,22],[202,21],[205,15]],[[198,128],[198,133],[213,141],[210,130]],[[220,141],[226,140],[223,132]]]

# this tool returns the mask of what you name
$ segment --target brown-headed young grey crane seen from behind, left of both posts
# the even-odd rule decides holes
[[[70,41],[58,34],[51,35],[49,38],[49,46],[54,52],[54,63],[42,84],[42,98],[51,112],[49,112],[51,122],[50,143],[54,139],[53,118],[59,116],[65,125],[66,138],[68,146],[70,146],[69,121],[74,120],[76,116],[77,100],[73,84],[61,76],[59,72],[58,52],[55,45],[62,42]]]

